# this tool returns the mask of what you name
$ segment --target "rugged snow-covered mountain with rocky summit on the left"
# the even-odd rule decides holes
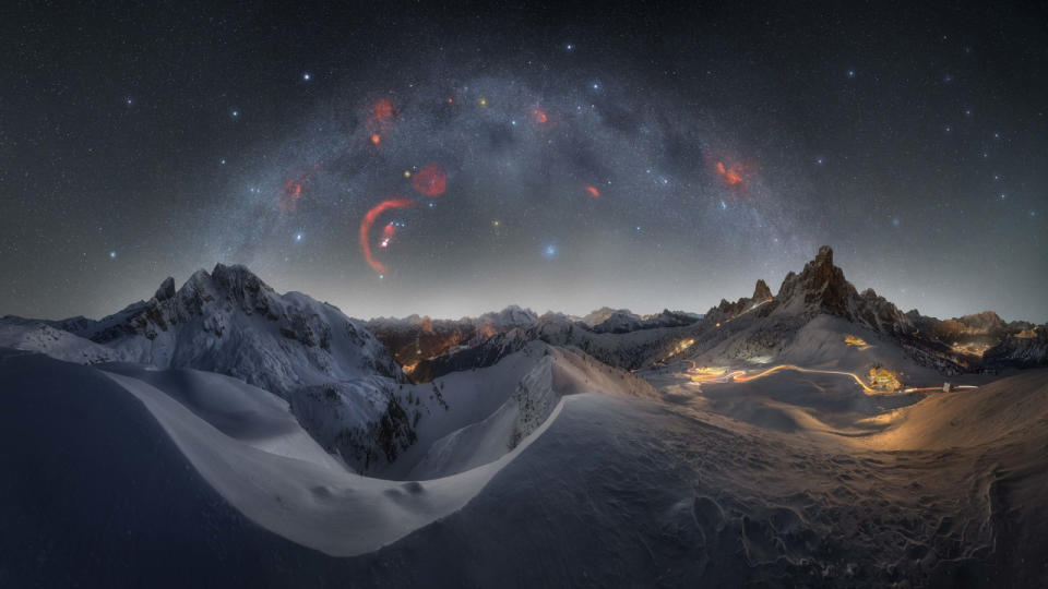
[[[300,292],[278,294],[243,266],[198,271],[177,290],[168,278],[148,301],[75,333],[128,361],[227,374],[285,398],[332,381],[403,378],[360,322]]]

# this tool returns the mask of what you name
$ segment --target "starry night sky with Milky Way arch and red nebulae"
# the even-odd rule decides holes
[[[830,244],[1048,321],[1044,4],[372,4],[8,10],[0,315],[218,262],[358,317],[704,312]]]

